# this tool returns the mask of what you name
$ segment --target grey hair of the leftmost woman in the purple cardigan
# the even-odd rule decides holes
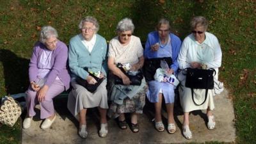
[[[58,33],[56,29],[52,28],[51,26],[44,26],[40,31],[40,38],[39,41],[43,44],[45,43],[45,40],[51,37],[58,38]]]

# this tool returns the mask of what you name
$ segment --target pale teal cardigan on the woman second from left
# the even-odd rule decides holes
[[[88,67],[92,72],[101,71],[107,76],[107,42],[102,36],[96,34],[96,42],[90,53],[84,44],[81,34],[74,36],[70,40],[68,48],[68,63],[71,71],[71,77],[81,77],[86,79],[89,75],[84,67]]]

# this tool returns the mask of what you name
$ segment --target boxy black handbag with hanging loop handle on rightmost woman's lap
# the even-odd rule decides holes
[[[213,77],[216,74],[216,71],[213,68],[210,69],[198,69],[198,68],[186,68],[186,83],[185,86],[191,88],[192,99],[196,106],[201,106],[204,104],[207,99],[208,90],[214,88],[214,79]],[[202,104],[196,104],[194,100],[194,88],[205,89],[205,99]]]

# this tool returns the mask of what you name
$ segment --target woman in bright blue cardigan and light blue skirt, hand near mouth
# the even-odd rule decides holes
[[[168,113],[168,132],[176,131],[173,118],[174,86],[170,83],[158,82],[154,79],[156,69],[160,67],[160,61],[168,63],[168,74],[176,74],[178,69],[177,57],[179,54],[180,38],[170,33],[170,24],[166,19],[159,20],[156,31],[148,34],[145,45],[145,77],[148,83],[147,98],[155,106],[155,127],[157,131],[164,131],[161,118],[162,100],[166,103]],[[154,69],[154,71],[152,71]]]

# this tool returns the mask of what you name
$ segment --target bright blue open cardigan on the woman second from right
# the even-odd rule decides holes
[[[175,74],[177,74],[177,70],[179,68],[177,58],[180,51],[181,40],[178,36],[174,35],[173,33],[170,33],[170,38],[171,38],[171,44],[172,44],[172,62],[173,62],[172,65],[170,65],[170,68],[172,68]],[[154,52],[152,54],[152,51],[150,51],[151,45],[154,45],[157,42],[159,42],[159,35],[157,31],[153,31],[149,33],[147,42],[145,44],[145,51],[144,51],[144,57],[146,59],[157,58],[157,52]]]

